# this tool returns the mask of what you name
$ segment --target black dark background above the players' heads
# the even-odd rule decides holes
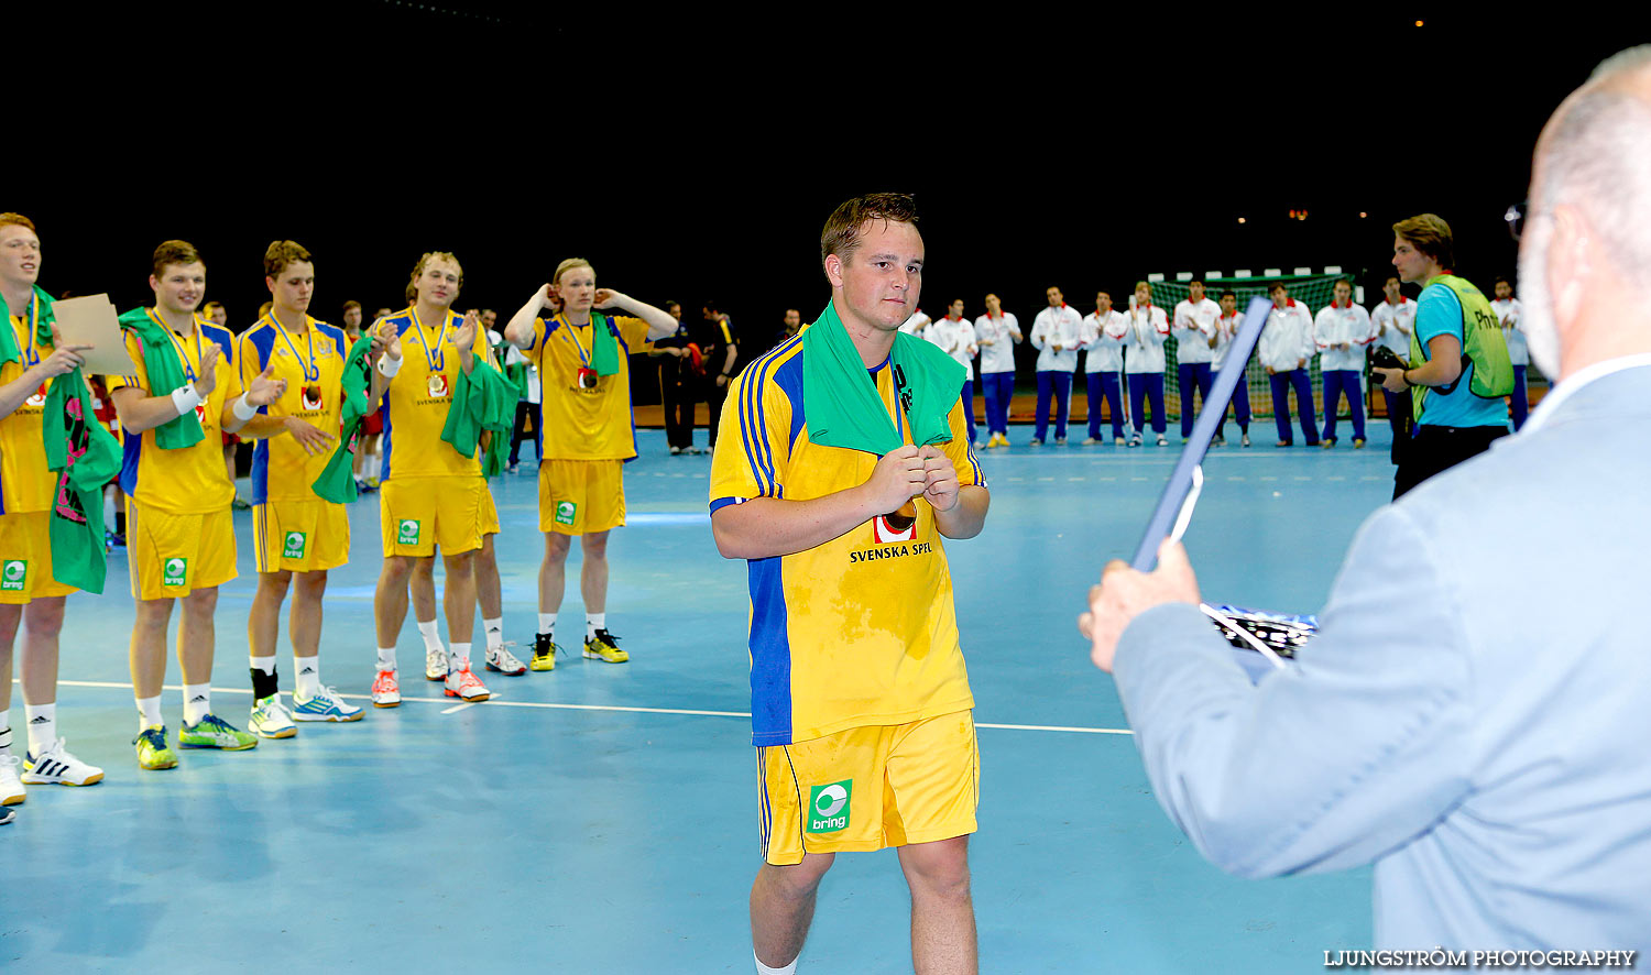
[[[996,290],[1029,323],[1048,284],[1088,312],[1147,272],[1326,264],[1365,269],[1375,300],[1388,228],[1420,211],[1451,221],[1458,271],[1488,285],[1512,276],[1501,218],[1542,122],[1646,35],[1426,5],[7,18],[0,210],[40,226],[53,294],[147,302],[154,246],[183,238],[244,328],[264,246],[291,238],[315,256],[320,318],[401,307],[429,249],[464,264],[457,307],[509,317],[583,256],[647,302],[717,297],[748,341],[826,304],[819,228],[878,190],[918,196],[934,317],[954,295],[979,315]]]

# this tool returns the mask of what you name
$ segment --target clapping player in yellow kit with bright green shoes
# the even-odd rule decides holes
[[[160,688],[167,676],[172,601],[183,601],[178,665],[183,670],[183,747],[244,751],[258,737],[211,713],[213,612],[218,586],[234,579],[234,483],[223,465],[225,417],[251,417],[282,391],[269,376],[243,393],[231,365],[234,337],[195,309],[206,266],[185,241],[155,247],[152,309],[121,315],[130,376],[109,376],[109,398],[125,431],[121,487],[127,497],[127,559],[137,622],[132,690],[137,698],[137,764],[170,769]],[[233,403],[231,403],[233,401]]]

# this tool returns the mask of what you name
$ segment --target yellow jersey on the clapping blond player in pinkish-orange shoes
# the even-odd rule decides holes
[[[419,322],[416,309],[406,309],[390,318],[401,337],[401,370],[385,393],[385,470],[393,477],[480,477],[477,457],[466,457],[441,439],[447,426],[447,407],[452,406],[452,386],[459,381],[459,350],[452,335],[462,318],[447,312],[439,323]],[[471,346],[475,361],[492,361],[487,348],[487,330],[475,330]]]

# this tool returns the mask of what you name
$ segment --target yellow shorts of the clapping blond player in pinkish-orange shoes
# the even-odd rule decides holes
[[[398,477],[378,485],[378,533],[386,556],[429,558],[482,548],[499,511],[480,477]]]

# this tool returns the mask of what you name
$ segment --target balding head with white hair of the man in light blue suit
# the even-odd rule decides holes
[[[1519,290],[1549,376],[1651,353],[1651,45],[1595,68],[1542,129]]]

